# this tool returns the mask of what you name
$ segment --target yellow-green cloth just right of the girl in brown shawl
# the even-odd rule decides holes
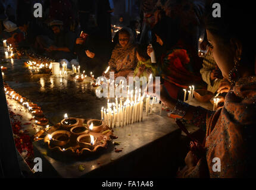
[[[137,66],[135,68],[133,77],[135,77],[138,74],[139,67],[144,66],[144,65],[145,65],[145,69],[139,77],[146,77],[148,79],[150,74],[152,74],[152,77],[157,76],[157,65],[152,65],[151,59],[148,59],[145,62],[143,62],[143,61],[138,62]]]

